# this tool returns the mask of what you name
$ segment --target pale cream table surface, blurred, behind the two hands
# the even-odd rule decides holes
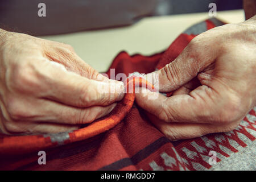
[[[105,72],[120,51],[130,55],[161,52],[189,26],[208,18],[208,13],[153,16],[126,27],[40,38],[70,44],[86,63],[98,72]],[[245,15],[243,10],[217,11],[217,18],[238,23],[245,20]]]

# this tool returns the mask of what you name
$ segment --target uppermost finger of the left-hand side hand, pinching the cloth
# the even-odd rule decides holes
[[[92,80],[52,65],[43,66],[44,69],[38,71],[41,84],[37,96],[40,98],[76,107],[106,106],[122,100],[122,82]]]

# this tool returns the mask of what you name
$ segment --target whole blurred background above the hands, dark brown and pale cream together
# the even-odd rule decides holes
[[[38,16],[42,2],[46,17]],[[70,44],[86,63],[105,72],[120,51],[164,51],[181,32],[212,18],[212,2],[214,18],[245,20],[242,0],[0,0],[0,27]]]

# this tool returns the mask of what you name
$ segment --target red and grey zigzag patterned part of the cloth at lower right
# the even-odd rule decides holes
[[[171,150],[162,152],[158,158],[152,160],[148,165],[153,170],[225,170],[237,169],[241,165],[247,165],[248,169],[255,170],[255,111],[256,107],[243,118],[237,129],[227,133],[210,134],[191,139],[185,144],[185,147],[182,144],[182,146],[177,146],[176,149],[172,147]],[[250,146],[250,148],[247,146]],[[245,147],[246,150],[244,150]],[[216,165],[211,166],[209,164],[209,151],[216,151]],[[230,158],[236,153],[239,153],[236,158]],[[226,159],[228,159],[230,165],[225,165],[224,168],[221,163]],[[158,165],[157,161],[160,160],[163,160],[164,166]]]

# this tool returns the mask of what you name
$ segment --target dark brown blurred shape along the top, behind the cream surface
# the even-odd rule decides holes
[[[256,0],[255,0],[256,1]],[[46,17],[38,4],[46,4]],[[143,16],[242,9],[242,0],[0,0],[0,27],[30,35],[53,35],[129,25]]]

